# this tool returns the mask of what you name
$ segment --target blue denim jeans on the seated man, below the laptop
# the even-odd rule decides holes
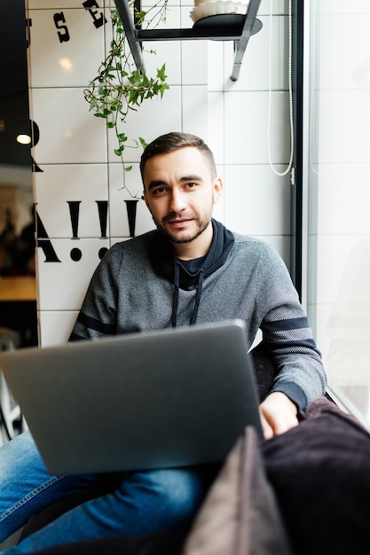
[[[112,493],[78,505],[4,552],[32,553],[59,543],[174,528],[191,520],[200,506],[214,476],[213,467],[207,468],[119,474],[122,480]],[[51,476],[32,436],[20,434],[0,448],[0,541],[35,512],[99,480],[96,474]]]

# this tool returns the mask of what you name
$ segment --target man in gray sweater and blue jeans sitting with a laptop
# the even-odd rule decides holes
[[[108,251],[71,340],[242,318],[249,346],[261,328],[279,367],[260,406],[264,437],[294,428],[297,410],[324,394],[326,377],[284,263],[270,246],[232,234],[212,219],[223,185],[199,137],[159,137],[146,147],[140,169],[158,230]],[[6,552],[174,528],[193,518],[213,471],[122,473],[112,493],[79,505]],[[29,434],[17,437],[0,449],[0,539],[53,500],[98,480],[51,477]]]

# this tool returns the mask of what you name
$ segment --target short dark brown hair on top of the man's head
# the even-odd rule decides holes
[[[147,160],[150,160],[156,154],[167,154],[169,152],[177,151],[179,148],[184,148],[185,146],[195,146],[199,151],[201,151],[209,161],[212,177],[216,177],[216,163],[213,152],[210,150],[209,146],[205,144],[203,139],[201,139],[201,137],[196,137],[196,135],[191,135],[190,133],[172,131],[171,133],[161,135],[161,137],[154,139],[152,143],[149,143],[149,145],[146,146],[146,149],[142,153],[140,160],[140,173],[143,183],[144,169],[146,167]]]

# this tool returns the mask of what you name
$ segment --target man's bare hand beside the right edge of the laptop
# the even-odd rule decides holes
[[[268,395],[260,404],[259,411],[265,440],[298,426],[295,403],[279,391]]]

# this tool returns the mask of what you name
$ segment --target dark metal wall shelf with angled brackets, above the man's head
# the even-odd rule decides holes
[[[135,27],[133,15],[127,0],[114,0],[122,20],[130,51],[136,66],[145,71],[141,43],[146,41],[185,41],[185,40],[214,40],[233,41],[234,61],[231,79],[237,81],[241,62],[247,49],[251,35],[255,35],[262,28],[260,20],[256,19],[261,0],[249,0],[246,15],[224,14],[210,16],[194,23],[187,29],[140,29]],[[135,7],[140,11],[140,0]]]

